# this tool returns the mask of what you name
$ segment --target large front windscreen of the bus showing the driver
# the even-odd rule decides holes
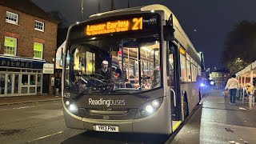
[[[69,47],[65,87],[74,93],[161,86],[158,38],[96,40]]]

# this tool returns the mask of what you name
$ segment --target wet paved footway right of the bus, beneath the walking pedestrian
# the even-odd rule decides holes
[[[230,105],[223,90],[210,90],[171,144],[182,143],[256,143],[256,107],[249,110],[248,100]]]

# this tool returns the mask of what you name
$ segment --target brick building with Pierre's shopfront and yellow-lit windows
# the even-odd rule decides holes
[[[57,28],[30,0],[0,0],[0,97],[53,94]]]

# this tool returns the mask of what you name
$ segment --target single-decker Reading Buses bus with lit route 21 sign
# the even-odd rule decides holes
[[[200,75],[198,52],[166,6],[91,15],[66,38],[66,126],[171,134],[199,102]]]

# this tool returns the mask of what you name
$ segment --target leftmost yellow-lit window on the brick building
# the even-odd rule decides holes
[[[5,50],[6,55],[16,55],[17,39],[5,37]]]

